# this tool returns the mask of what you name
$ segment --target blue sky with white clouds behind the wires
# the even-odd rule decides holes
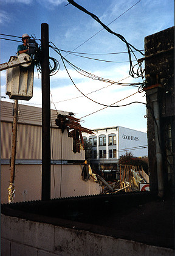
[[[147,35],[174,26],[173,0],[141,0],[139,2],[138,0],[76,0],[75,2],[97,15],[106,25],[137,3],[112,22],[109,27],[112,31],[123,35],[131,45],[140,50],[144,49],[144,38]],[[29,35],[35,34],[36,38],[41,38],[41,23],[48,23],[49,40],[57,48],[72,51],[79,46],[75,50],[78,53],[99,54],[87,55],[87,57],[113,61],[101,62],[72,54],[66,56],[66,53],[61,52],[72,64],[89,73],[113,81],[126,78],[123,82],[143,82],[144,78],[128,78],[129,62],[122,62],[128,61],[128,54],[100,55],[100,53],[121,53],[126,51],[125,43],[115,35],[109,34],[105,29],[100,31],[103,27],[97,21],[71,4],[65,6],[67,3],[67,1],[62,0],[1,1],[1,34],[21,37],[22,34],[27,33]],[[98,31],[100,32],[95,35]],[[12,37],[11,39],[20,40]],[[16,55],[18,44],[18,42],[1,40],[1,63],[7,62],[10,56]],[[136,55],[137,58],[142,57],[139,53]],[[60,56],[52,49],[50,49],[50,57],[60,60]],[[116,61],[120,63],[116,63]],[[144,117],[146,108],[143,104],[135,103],[120,108],[105,108],[98,111],[104,106],[82,97],[81,93],[70,81],[61,60],[59,62],[60,70],[56,75],[50,76],[51,100],[58,110],[74,112],[76,117],[83,117],[84,122],[82,125],[87,128],[119,125],[134,130],[146,131],[146,119]],[[98,101],[98,103],[110,105],[137,92],[137,87],[118,86],[116,84],[109,86],[105,82],[85,78],[69,66],[67,66],[67,69],[78,89],[84,94],[108,86],[88,95],[89,98]],[[36,69],[33,86],[33,98],[30,101],[19,101],[19,103],[41,107],[41,73],[38,74]],[[13,102],[5,95],[5,71],[1,71],[1,97],[6,97],[5,99],[1,98],[1,100]],[[145,103],[145,93],[136,93],[117,104],[128,104],[133,101]],[[51,103],[52,109],[55,109],[55,106]],[[95,111],[98,112],[91,114]],[[88,116],[84,117],[85,115]]]

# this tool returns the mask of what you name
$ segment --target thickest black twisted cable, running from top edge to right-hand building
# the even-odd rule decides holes
[[[90,15],[95,21],[97,21],[98,23],[100,23],[101,26],[103,26],[104,29],[106,29],[106,31],[108,31],[108,32],[111,33],[111,34],[114,34],[115,36],[117,36],[118,38],[120,38],[120,40],[122,40],[122,41],[126,44],[126,47],[127,47],[127,49],[128,49],[129,62],[130,62],[129,75],[131,75],[132,78],[138,78],[138,77],[142,76],[142,70],[141,70],[141,73],[140,73],[140,74],[139,74],[138,72],[137,72],[137,73],[134,72],[134,68],[133,68],[133,66],[132,66],[132,57],[131,57],[131,53],[134,54],[132,49],[135,49],[135,50],[138,51],[140,54],[144,55],[144,54],[142,53],[142,51],[140,51],[139,49],[135,48],[133,45],[131,45],[131,43],[128,43],[128,42],[126,41],[125,37],[123,37],[123,36],[120,35],[120,34],[115,33],[115,32],[112,31],[111,29],[109,29],[109,27],[106,26],[104,23],[102,23],[102,22],[100,21],[100,19],[99,19],[96,15],[94,15],[94,13],[91,13],[91,12],[87,11],[86,9],[84,9],[84,7],[82,7],[81,5],[77,4],[77,3],[76,3],[75,1],[73,1],[73,0],[67,0],[67,1],[68,1],[70,4],[74,5],[75,7],[77,7],[79,10],[81,10],[81,11],[83,11],[84,13]],[[140,1],[139,1],[139,2],[140,2]],[[136,57],[135,54],[134,54],[134,57]],[[135,76],[135,75],[137,75],[137,76]]]

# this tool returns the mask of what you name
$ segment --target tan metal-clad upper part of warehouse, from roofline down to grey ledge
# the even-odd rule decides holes
[[[21,106],[19,106],[16,159],[41,159],[41,109]],[[25,111],[22,111],[22,108]],[[3,102],[1,104],[1,159],[10,159],[12,152],[12,113],[12,103]],[[51,159],[83,160],[85,158],[84,150],[76,154],[73,152],[73,139],[68,137],[67,131],[61,133],[58,126],[54,124],[56,118],[57,112],[52,111]]]

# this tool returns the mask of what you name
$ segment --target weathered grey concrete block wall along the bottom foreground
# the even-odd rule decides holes
[[[1,214],[2,256],[173,256],[168,248],[98,235],[76,227],[26,221]]]

